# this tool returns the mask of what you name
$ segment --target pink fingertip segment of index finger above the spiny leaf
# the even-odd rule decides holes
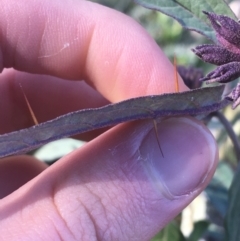
[[[111,102],[176,91],[173,65],[155,40],[132,18],[108,8],[95,25],[86,70]],[[187,89],[179,76],[179,91]]]

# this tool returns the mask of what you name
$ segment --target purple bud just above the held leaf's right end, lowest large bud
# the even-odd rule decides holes
[[[200,81],[206,81],[208,84],[213,82],[228,83],[240,76],[240,62],[231,62],[216,68]]]

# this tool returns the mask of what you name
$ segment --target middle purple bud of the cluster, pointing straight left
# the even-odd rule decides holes
[[[192,51],[203,61],[215,65],[240,61],[240,54],[232,53],[224,47],[215,44],[199,45]]]

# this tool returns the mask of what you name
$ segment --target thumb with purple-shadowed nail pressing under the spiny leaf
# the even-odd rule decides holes
[[[1,235],[150,240],[203,190],[218,157],[196,120],[162,120],[158,134],[164,158],[149,121],[112,128],[64,157],[1,200]]]

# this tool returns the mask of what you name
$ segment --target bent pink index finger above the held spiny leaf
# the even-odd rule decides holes
[[[5,0],[2,6],[2,67],[84,78],[111,102],[175,91],[171,63],[139,24],[119,12],[74,0]]]

